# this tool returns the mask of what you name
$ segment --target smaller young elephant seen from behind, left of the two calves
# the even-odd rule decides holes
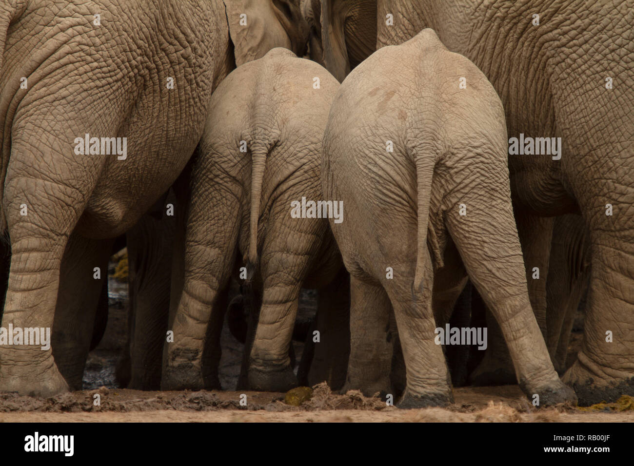
[[[268,391],[297,385],[288,348],[299,290],[328,285],[341,260],[321,215],[333,210],[308,209],[297,218],[294,202],[322,199],[321,139],[338,87],[325,68],[276,48],[238,67],[212,95],[193,167],[184,290],[163,389],[219,387],[226,288],[241,265],[240,279],[254,288],[251,307],[259,310],[250,365],[245,347],[248,385]]]

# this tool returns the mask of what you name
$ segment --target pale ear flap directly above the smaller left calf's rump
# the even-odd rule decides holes
[[[276,47],[306,53],[309,27],[299,0],[224,0],[236,66]]]

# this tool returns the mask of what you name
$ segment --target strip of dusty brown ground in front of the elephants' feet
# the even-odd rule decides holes
[[[94,395],[100,406],[94,406]],[[283,403],[284,394],[245,392],[79,391],[49,399],[0,395],[0,422],[634,422],[629,411],[584,411],[571,406],[535,410],[517,386],[454,390],[449,408],[399,410],[358,392],[330,393],[318,386],[301,406]]]

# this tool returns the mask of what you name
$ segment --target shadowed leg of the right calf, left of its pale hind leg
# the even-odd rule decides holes
[[[392,305],[387,292],[379,284],[352,275],[350,299],[350,358],[342,393],[391,394],[392,342],[388,335]]]

